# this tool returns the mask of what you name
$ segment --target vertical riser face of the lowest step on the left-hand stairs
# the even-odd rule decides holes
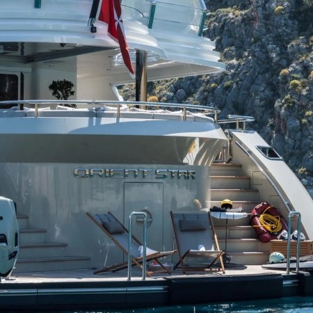
[[[83,261],[62,261],[62,262],[19,262],[15,264],[14,273],[25,272],[45,272],[45,271],[63,271],[90,268],[89,262]]]

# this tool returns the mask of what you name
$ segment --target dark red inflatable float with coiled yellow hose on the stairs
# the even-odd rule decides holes
[[[271,207],[267,202],[257,204],[252,210],[250,225],[255,228],[257,236],[262,242],[278,239],[278,235],[283,230],[288,230],[284,218],[275,207]]]

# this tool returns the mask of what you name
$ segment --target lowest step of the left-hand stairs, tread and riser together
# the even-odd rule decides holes
[[[88,266],[90,257],[31,257],[18,258],[15,264],[14,273],[24,272],[41,272],[41,271],[57,271],[83,269]],[[61,265],[62,263],[62,265]]]

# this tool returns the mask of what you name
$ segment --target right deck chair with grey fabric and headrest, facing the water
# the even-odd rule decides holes
[[[170,212],[179,262],[174,268],[186,271],[223,271],[223,250],[218,246],[209,212]]]

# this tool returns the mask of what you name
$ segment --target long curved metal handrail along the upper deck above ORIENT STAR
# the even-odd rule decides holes
[[[220,109],[214,108],[213,106],[198,106],[195,104],[173,104],[167,102],[136,102],[136,101],[93,101],[93,100],[12,100],[12,101],[1,101],[0,102],[0,109],[1,106],[4,105],[33,105],[38,109],[39,106],[45,104],[76,104],[76,105],[88,105],[88,106],[116,106],[118,110],[118,118],[120,117],[120,106],[127,105],[127,106],[147,106],[152,108],[172,108],[172,109],[182,109],[183,111],[183,120],[186,120],[186,109],[191,109],[194,111],[200,111],[205,115],[207,114],[214,114],[214,120],[217,122],[217,116],[220,113]],[[38,113],[38,111],[36,111]],[[36,115],[38,116],[38,114]]]

